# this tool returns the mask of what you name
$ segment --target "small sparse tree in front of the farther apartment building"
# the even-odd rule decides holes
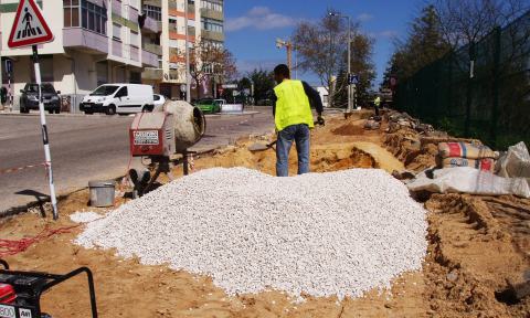
[[[235,61],[230,51],[200,39],[193,44],[190,52],[190,76],[197,87],[197,98],[202,97],[202,83],[208,80],[223,83],[234,78],[236,73]]]

